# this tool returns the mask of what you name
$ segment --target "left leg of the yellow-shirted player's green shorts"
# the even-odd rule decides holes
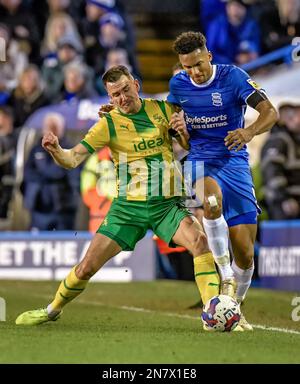
[[[146,202],[114,200],[97,233],[111,238],[123,251],[132,251],[148,229]]]

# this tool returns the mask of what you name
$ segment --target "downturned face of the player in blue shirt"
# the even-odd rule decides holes
[[[195,49],[195,51],[179,55],[183,69],[197,84],[205,83],[212,76],[212,55],[207,50]]]

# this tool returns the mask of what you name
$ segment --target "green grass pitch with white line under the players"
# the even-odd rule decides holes
[[[0,363],[300,363],[298,293],[251,288],[243,311],[254,332],[201,327],[192,282],[90,283],[57,322],[16,326],[16,316],[48,304],[58,282],[1,281]],[[298,310],[300,315],[300,308]]]

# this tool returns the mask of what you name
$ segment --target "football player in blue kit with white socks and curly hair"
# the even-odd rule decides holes
[[[170,80],[168,101],[184,111],[190,142],[187,160],[192,162],[192,182],[203,202],[203,225],[222,279],[220,292],[241,303],[254,271],[260,213],[246,144],[273,127],[277,112],[246,72],[234,65],[212,64],[202,33],[182,33],[173,48],[183,71]],[[259,116],[244,127],[247,105]],[[243,330],[253,329],[244,316],[239,325]]]

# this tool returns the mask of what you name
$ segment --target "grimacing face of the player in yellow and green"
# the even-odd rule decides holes
[[[137,80],[122,75],[115,83],[106,84],[111,103],[123,113],[137,113],[141,108],[139,83]]]

